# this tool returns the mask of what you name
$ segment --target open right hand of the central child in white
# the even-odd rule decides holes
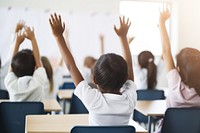
[[[119,17],[119,20],[120,20],[120,27],[117,29],[116,26],[114,25],[114,30],[118,36],[126,37],[131,22],[129,22],[129,19],[125,20],[125,17],[123,17],[123,19]]]

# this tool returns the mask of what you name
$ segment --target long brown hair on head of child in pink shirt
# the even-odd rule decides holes
[[[176,59],[182,81],[190,88],[194,88],[200,96],[200,51],[184,48]]]

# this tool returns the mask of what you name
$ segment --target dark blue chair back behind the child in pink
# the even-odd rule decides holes
[[[200,133],[200,108],[168,108],[161,133]]]

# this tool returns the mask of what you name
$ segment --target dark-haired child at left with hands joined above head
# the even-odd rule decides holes
[[[24,23],[19,22],[17,26],[21,28],[16,33],[10,72],[6,75],[5,86],[11,101],[42,101],[47,75],[40,61],[35,34],[33,29],[24,26]],[[25,38],[31,41],[33,51],[24,49],[18,52]]]

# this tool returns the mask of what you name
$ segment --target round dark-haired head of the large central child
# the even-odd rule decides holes
[[[128,66],[120,55],[104,54],[97,60],[93,75],[102,92],[117,93],[128,78]]]

